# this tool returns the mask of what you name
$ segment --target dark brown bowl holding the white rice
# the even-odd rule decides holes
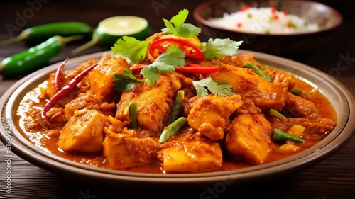
[[[279,11],[304,18],[309,23],[317,23],[321,28],[308,33],[256,34],[219,28],[209,21],[211,18],[222,17],[224,13],[240,11],[245,6],[275,7]],[[280,56],[302,55],[319,49],[321,45],[331,41],[334,30],[342,23],[342,15],[334,8],[314,1],[297,0],[207,1],[195,8],[193,16],[197,25],[202,28],[202,34],[208,38],[244,40],[241,49]]]

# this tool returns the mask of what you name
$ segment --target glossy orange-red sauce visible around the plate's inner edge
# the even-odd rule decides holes
[[[327,98],[322,95],[322,93],[317,91],[317,89],[313,88],[309,84],[305,83],[305,81],[302,81],[295,77],[294,79],[297,87],[307,92],[307,100],[310,100],[315,103],[317,108],[322,113],[323,118],[329,118],[333,121],[337,121],[337,115],[334,112],[334,108],[329,103]],[[41,149],[50,152],[55,156],[70,159],[72,161],[80,162],[82,164],[111,169],[109,164],[107,164],[107,161],[104,159],[102,152],[89,154],[74,152],[69,153],[59,149],[57,142],[59,140],[60,130],[44,130],[43,128],[43,130],[37,132],[24,131],[24,123],[27,123],[26,125],[28,125],[28,123],[35,123],[35,121],[28,120],[28,118],[26,117],[26,115],[28,114],[32,115],[32,113],[28,113],[28,111],[33,112],[33,114],[38,114],[38,112],[40,112],[41,108],[46,103],[45,98],[43,98],[43,93],[45,93],[45,85],[46,82],[43,82],[43,84],[40,84],[32,91],[29,91],[18,107],[18,112],[15,115],[16,125],[18,129],[22,131],[23,136],[26,137],[29,141],[33,142],[33,144],[35,144],[37,147],[40,147]],[[188,128],[187,130],[190,130],[190,128]],[[305,140],[305,144],[300,144],[298,146],[302,147],[302,150],[307,149],[309,147],[312,147],[314,144],[317,144],[317,142],[320,142],[325,136],[326,135],[319,137],[318,139]],[[278,147],[280,147],[280,144],[275,144],[271,142],[271,152],[269,153],[268,158],[266,159],[266,163],[293,155],[278,154],[277,152],[275,152],[275,149],[277,149]],[[219,171],[241,169],[253,165],[255,164],[251,164],[243,159],[229,157],[228,155],[226,155],[226,153],[224,153],[223,164],[222,167],[219,168]],[[158,161],[143,166],[136,166],[130,169],[121,170],[144,173],[163,173],[161,169],[161,164]]]

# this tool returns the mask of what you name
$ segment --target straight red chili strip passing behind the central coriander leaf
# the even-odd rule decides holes
[[[140,64],[138,67],[131,68],[131,72],[136,72],[143,69],[148,65]],[[218,67],[205,67],[200,64],[186,64],[185,67],[177,67],[176,72],[185,72],[185,73],[195,73],[195,74],[210,74],[218,71]]]

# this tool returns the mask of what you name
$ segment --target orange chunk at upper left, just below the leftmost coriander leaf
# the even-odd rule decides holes
[[[121,57],[102,59],[99,65],[94,67],[88,75],[90,89],[95,95],[107,98],[114,91],[112,76],[114,74],[123,74],[124,69],[129,69],[126,59]]]

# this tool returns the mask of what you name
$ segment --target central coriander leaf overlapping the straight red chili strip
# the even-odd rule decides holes
[[[185,66],[185,53],[178,45],[170,45],[152,64],[144,67],[141,74],[148,79],[149,84],[154,85],[160,72],[163,74],[173,72],[178,66]]]

